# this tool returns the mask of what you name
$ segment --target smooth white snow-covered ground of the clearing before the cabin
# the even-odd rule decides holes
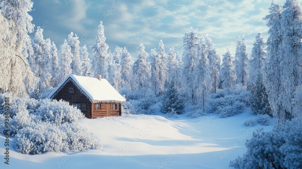
[[[9,166],[4,164],[5,139],[0,135],[1,167],[225,169],[230,160],[246,151],[245,141],[253,131],[259,127],[264,131],[273,128],[273,124],[244,126],[250,116],[255,114],[246,110],[224,119],[216,114],[192,119],[184,115],[166,119],[163,114],[86,119],[82,126],[101,139],[106,151],[24,155],[14,151],[10,144]]]

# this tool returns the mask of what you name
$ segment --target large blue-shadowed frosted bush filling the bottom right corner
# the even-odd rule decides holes
[[[269,132],[257,130],[246,142],[242,158],[230,161],[230,167],[241,169],[302,168],[302,118],[287,120]]]

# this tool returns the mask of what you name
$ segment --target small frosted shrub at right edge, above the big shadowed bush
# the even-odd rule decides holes
[[[302,116],[302,86],[297,86],[294,91],[294,98],[291,100],[293,105],[292,115],[294,117]]]

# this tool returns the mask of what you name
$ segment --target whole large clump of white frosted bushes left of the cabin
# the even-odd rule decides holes
[[[4,105],[3,98],[0,94],[0,108]],[[9,128],[15,137],[13,146],[25,154],[103,150],[99,139],[79,124],[83,118],[80,110],[65,101],[11,98]],[[2,121],[3,111],[0,112]]]

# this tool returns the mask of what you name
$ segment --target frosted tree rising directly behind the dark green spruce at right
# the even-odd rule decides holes
[[[259,75],[262,76],[263,67],[266,63],[267,56],[265,48],[265,41],[262,37],[262,33],[259,32],[257,36],[255,36],[251,59],[249,60],[249,80],[251,85],[256,83]]]

